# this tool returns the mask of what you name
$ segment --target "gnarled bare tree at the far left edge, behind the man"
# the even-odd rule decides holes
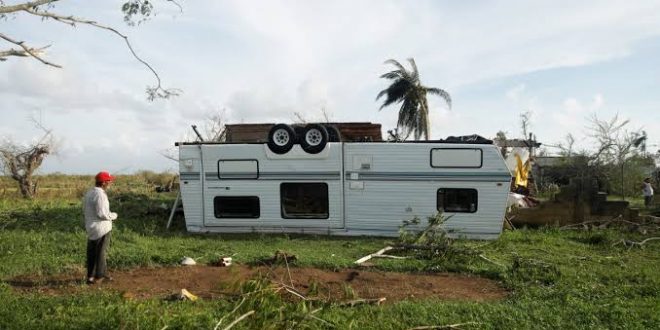
[[[0,163],[3,173],[18,183],[23,198],[33,198],[37,194],[38,180],[34,172],[41,166],[46,156],[55,152],[55,140],[50,129],[33,119],[44,135],[31,145],[22,146],[11,139],[0,144]]]

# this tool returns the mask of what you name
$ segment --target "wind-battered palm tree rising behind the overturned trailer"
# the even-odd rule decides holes
[[[429,122],[429,105],[426,95],[434,94],[442,97],[450,109],[451,97],[443,89],[423,86],[419,81],[419,72],[415,60],[409,58],[408,62],[410,62],[412,71],[408,71],[396,60],[385,61],[385,64],[394,65],[396,70],[380,76],[392,80],[392,84],[380,91],[376,96],[376,100],[380,99],[381,96],[387,96],[379,110],[393,103],[401,103],[397,126],[407,132],[404,136],[407,137],[410,132],[413,132],[415,140],[419,140],[422,135],[424,135],[425,140],[428,140],[431,124]]]

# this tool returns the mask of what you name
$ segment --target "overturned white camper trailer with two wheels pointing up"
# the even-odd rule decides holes
[[[177,143],[187,230],[396,236],[404,220],[440,211],[455,237],[501,233],[511,174],[493,144],[297,131],[276,125],[268,143]]]

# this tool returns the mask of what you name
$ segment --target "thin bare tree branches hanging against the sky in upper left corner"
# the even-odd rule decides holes
[[[60,0],[36,0],[36,1],[24,1],[18,4],[9,5],[9,4],[5,4],[4,0],[0,0],[0,19],[6,19],[8,16],[16,16],[19,14],[28,14],[28,15],[41,17],[42,20],[44,21],[47,20],[56,21],[59,23],[70,25],[72,27],[76,27],[77,25],[87,25],[97,29],[108,31],[114,34],[115,36],[118,36],[121,39],[123,39],[131,55],[137,61],[142,63],[154,75],[156,82],[151,86],[147,86],[146,88],[148,100],[153,101],[156,98],[166,99],[172,96],[177,96],[181,93],[181,90],[179,89],[164,88],[162,86],[158,72],[156,72],[156,70],[148,62],[146,62],[140,56],[138,56],[138,54],[133,49],[133,46],[131,45],[130,41],[128,40],[128,37],[125,34],[119,32],[117,29],[113,27],[99,24],[93,20],[75,17],[73,15],[62,15],[53,12],[55,3],[59,1]],[[175,1],[172,0],[166,0],[166,1],[170,3],[174,3],[177,6],[179,6],[179,8],[181,8],[181,6]],[[124,5],[122,6],[122,11],[124,12],[124,20],[129,25],[133,25],[136,20],[139,23],[147,19],[153,12],[153,5],[151,4],[151,2],[147,0],[129,0],[126,3],[124,3]],[[5,42],[10,43],[17,47],[17,48],[9,48],[4,50],[0,49],[0,62],[6,61],[10,57],[31,57],[43,63],[44,65],[54,68],[62,68],[61,65],[50,62],[44,57],[44,51],[51,45],[35,47],[29,45],[27,42],[23,40],[13,38],[3,33],[0,33],[0,40],[4,40]]]

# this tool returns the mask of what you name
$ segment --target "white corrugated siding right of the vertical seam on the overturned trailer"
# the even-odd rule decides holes
[[[437,213],[439,188],[473,188],[478,191],[477,212],[447,213],[452,218],[447,221],[445,228],[470,237],[499,234],[509,177],[506,165],[495,147],[442,145],[443,148],[482,148],[483,166],[480,169],[431,168],[430,150],[437,146],[426,143],[347,144],[344,156],[347,171],[347,229],[395,233],[404,220],[414,216],[422,220],[423,226],[428,216]],[[373,161],[368,170],[358,169],[353,163],[354,157],[364,155],[372,155]],[[379,175],[370,176],[374,172]],[[354,174],[351,176],[350,173]],[[416,173],[424,173],[424,176],[416,181],[406,181],[406,177],[415,178]],[[475,178],[479,181],[475,181]],[[364,189],[350,189],[350,182],[362,182]]]

